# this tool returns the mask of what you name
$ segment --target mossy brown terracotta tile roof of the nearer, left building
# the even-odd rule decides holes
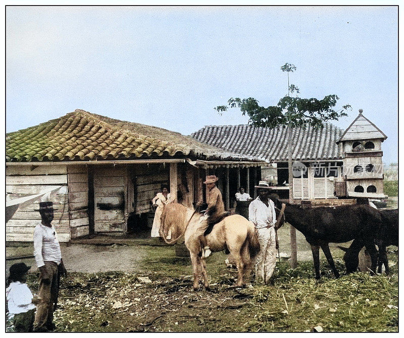
[[[80,109],[6,134],[6,161],[88,161],[157,156],[258,160],[208,146],[175,131],[121,121]]]

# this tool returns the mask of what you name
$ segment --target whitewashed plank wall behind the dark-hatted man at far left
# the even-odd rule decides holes
[[[52,224],[58,233],[60,242],[70,240],[69,208],[67,195],[66,166],[7,166],[6,201],[40,193],[61,185],[53,198],[55,218]],[[39,200],[20,206],[6,224],[6,241],[32,242],[35,226],[41,217],[34,209],[39,208]]]

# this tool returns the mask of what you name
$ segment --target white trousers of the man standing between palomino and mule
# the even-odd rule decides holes
[[[276,265],[276,240],[275,228],[260,228],[258,241],[261,250],[256,256],[256,281],[267,284],[271,279]]]

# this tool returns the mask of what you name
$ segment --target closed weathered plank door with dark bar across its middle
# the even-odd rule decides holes
[[[95,169],[95,168],[94,168]],[[122,235],[125,231],[125,177],[123,165],[94,170],[94,231]]]

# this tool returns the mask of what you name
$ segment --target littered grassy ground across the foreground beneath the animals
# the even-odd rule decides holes
[[[218,252],[207,261],[211,290],[198,292],[192,291],[189,258],[162,246],[150,246],[147,256],[138,273],[72,273],[62,280],[58,331],[303,332],[315,326],[327,332],[398,331],[396,251],[389,252],[390,276],[355,273],[336,280],[322,260],[322,279],[316,282],[312,260],[300,261],[296,269],[278,262],[273,285],[246,288],[232,287],[237,272],[225,267],[226,256]],[[340,256],[335,262],[343,272]],[[37,289],[35,275],[28,285]]]

